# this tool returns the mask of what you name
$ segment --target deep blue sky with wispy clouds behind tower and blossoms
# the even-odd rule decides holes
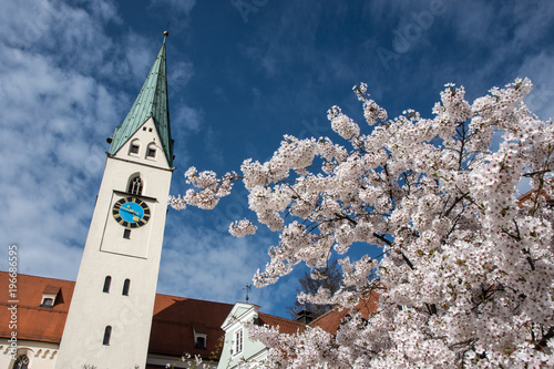
[[[191,165],[223,174],[264,161],[284,134],[329,136],[332,105],[361,122],[352,85],[367,82],[396,116],[431,116],[448,82],[468,99],[517,76],[527,103],[554,116],[554,2],[326,0],[0,0],[0,267],[75,279],[111,136],[160,50],[176,158],[172,194]],[[170,211],[158,291],[235,303],[278,238],[235,239],[244,191],[214,212]],[[6,249],[6,257],[1,255]],[[301,269],[254,289],[286,316]]]

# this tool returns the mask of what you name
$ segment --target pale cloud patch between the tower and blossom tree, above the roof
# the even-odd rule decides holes
[[[170,216],[176,216],[172,213]],[[160,271],[162,290],[178,290],[187,297],[234,303],[267,258],[269,240],[264,237],[234,238],[211,225],[176,225],[170,234]]]

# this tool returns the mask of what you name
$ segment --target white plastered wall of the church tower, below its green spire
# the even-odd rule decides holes
[[[138,153],[132,153],[132,143]],[[156,148],[154,157],[147,156],[148,147]],[[152,117],[107,157],[55,368],[145,368],[172,177]],[[129,182],[137,174],[142,195],[132,195]],[[150,221],[131,228],[129,239],[113,216],[123,197],[137,197],[151,211]],[[109,293],[103,291],[106,276]],[[129,296],[122,294],[125,279]],[[110,342],[103,345],[107,326]]]

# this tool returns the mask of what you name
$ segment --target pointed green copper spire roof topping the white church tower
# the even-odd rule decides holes
[[[166,33],[164,33],[167,35]],[[115,127],[109,154],[114,155],[125,142],[146,122],[154,120],[161,145],[170,166],[173,166],[173,140],[170,126],[170,102],[167,99],[167,74],[165,64],[165,37],[156,61],[136,96],[123,123]]]

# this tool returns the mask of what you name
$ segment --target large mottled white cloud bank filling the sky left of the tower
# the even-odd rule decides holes
[[[110,55],[125,49],[104,30],[120,21],[116,9],[111,1],[82,6],[28,0],[0,13],[0,239],[18,244],[20,273],[76,277],[105,137],[122,119],[122,99],[99,78],[116,81],[114,60],[125,57]]]

